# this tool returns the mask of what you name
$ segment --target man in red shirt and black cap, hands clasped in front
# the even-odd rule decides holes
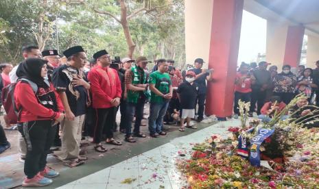
[[[94,128],[93,142],[95,150],[106,152],[101,144],[104,129],[106,129],[106,143],[121,145],[121,142],[113,138],[113,124],[106,123],[111,118],[110,112],[119,105],[121,99],[121,81],[115,69],[110,68],[110,55],[106,50],[98,51],[93,55],[97,66],[88,72],[88,80],[91,82],[93,108],[97,112],[97,121]],[[112,121],[112,123],[113,123]]]

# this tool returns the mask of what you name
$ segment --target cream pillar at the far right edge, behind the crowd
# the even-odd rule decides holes
[[[319,37],[308,35],[307,64],[308,68],[316,68],[315,63],[319,60]]]

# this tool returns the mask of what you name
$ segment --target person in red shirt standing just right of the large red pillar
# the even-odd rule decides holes
[[[252,92],[251,84],[255,82],[255,77],[248,73],[249,65],[241,63],[235,79],[235,99],[234,99],[234,118],[238,118],[239,100],[244,102],[250,101],[250,93]]]

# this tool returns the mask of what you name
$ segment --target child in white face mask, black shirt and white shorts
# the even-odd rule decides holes
[[[186,127],[197,129],[196,126],[189,125],[191,118],[195,117],[196,99],[198,97],[198,84],[195,83],[196,74],[193,71],[187,71],[185,81],[178,86],[177,96],[180,100],[180,128],[179,131],[185,131],[184,121],[186,118]]]

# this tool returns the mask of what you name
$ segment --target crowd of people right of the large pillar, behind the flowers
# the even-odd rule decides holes
[[[305,68],[304,65],[298,68],[291,68],[290,65],[283,65],[282,72],[277,72],[277,66],[270,66],[270,63],[255,62],[246,64],[242,62],[239,66],[235,79],[235,102],[234,118],[238,118],[239,100],[250,102],[248,116],[252,117],[256,112],[258,118],[263,122],[272,120],[275,112],[281,112],[285,106],[296,97],[303,93],[305,99],[298,102],[297,110],[302,106],[305,109],[303,116],[318,107],[319,103],[319,61],[316,68]],[[256,107],[257,105],[257,107]],[[295,111],[296,111],[295,110]],[[301,115],[301,114],[300,114]],[[281,116],[282,120],[289,117],[289,114]],[[311,121],[314,121],[311,119]],[[318,123],[311,122],[307,127],[318,127]]]

